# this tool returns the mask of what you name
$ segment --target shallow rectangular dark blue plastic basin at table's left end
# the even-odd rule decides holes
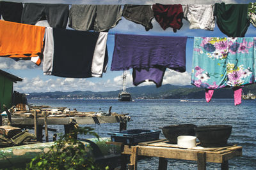
[[[111,141],[122,142],[125,145],[137,145],[143,141],[154,141],[159,139],[161,131],[145,130],[145,129],[131,129],[120,132],[109,132]]]

